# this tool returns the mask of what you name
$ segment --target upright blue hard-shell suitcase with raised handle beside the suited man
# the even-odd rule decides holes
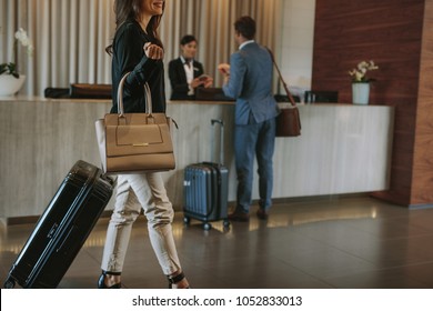
[[[220,162],[190,164],[184,170],[183,180],[183,221],[189,224],[192,219],[203,222],[204,230],[212,228],[211,221],[223,220],[224,229],[230,227],[228,220],[229,169],[223,164],[223,122],[220,124]],[[214,137],[214,136],[212,136]],[[212,147],[214,142],[212,142]],[[212,152],[213,154],[213,152]]]

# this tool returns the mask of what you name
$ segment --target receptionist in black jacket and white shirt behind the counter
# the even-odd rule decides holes
[[[194,36],[187,34],[180,42],[181,56],[169,63],[169,78],[172,89],[170,99],[191,100],[197,88],[209,88],[213,79],[204,74],[203,64],[194,60],[198,42]]]

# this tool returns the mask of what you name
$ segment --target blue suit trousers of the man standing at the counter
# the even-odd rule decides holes
[[[238,174],[236,211],[249,212],[252,202],[254,156],[258,161],[260,208],[272,205],[275,119],[262,123],[235,126],[234,156]]]

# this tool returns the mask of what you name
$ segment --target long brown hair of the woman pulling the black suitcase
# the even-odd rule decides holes
[[[141,16],[141,11],[143,10],[143,0],[115,0],[114,1],[114,14],[115,14],[115,30],[125,22],[128,19],[137,20]],[[165,1],[162,4],[162,13],[165,10]],[[145,31],[149,36],[155,39],[157,43],[162,47],[162,41],[158,33],[158,28],[161,23],[161,16],[153,16],[149,24],[145,28]],[[109,54],[113,52],[113,44],[110,44],[105,48],[105,51]]]

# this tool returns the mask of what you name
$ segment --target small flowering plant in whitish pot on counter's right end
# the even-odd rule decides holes
[[[352,101],[355,104],[369,104],[370,98],[370,82],[373,79],[369,78],[366,73],[371,70],[377,70],[379,67],[374,61],[361,61],[356,68],[349,71],[352,77]]]

